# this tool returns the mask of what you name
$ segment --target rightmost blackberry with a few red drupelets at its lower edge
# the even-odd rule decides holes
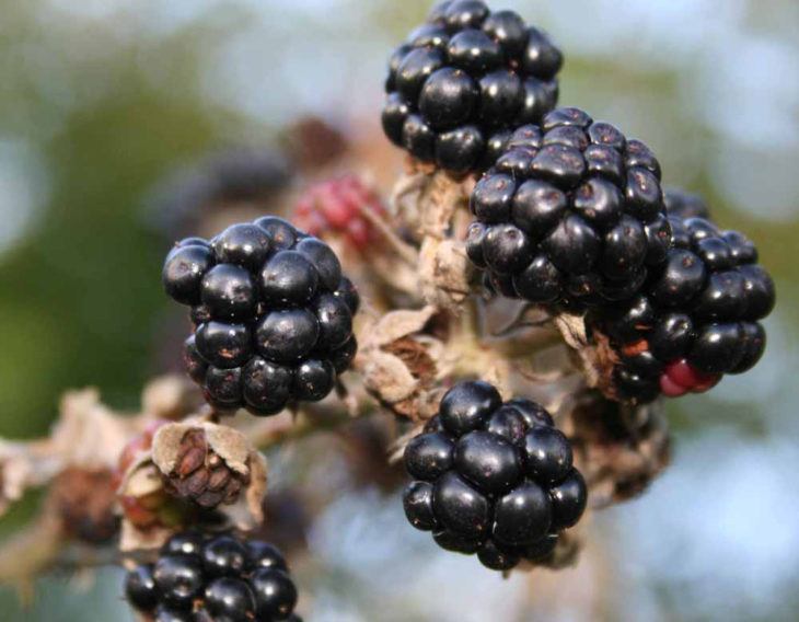
[[[676,214],[707,214],[697,197],[674,194]],[[615,387],[638,402],[714,387],[723,373],[751,369],[766,335],[759,320],[774,308],[774,283],[755,245],[699,216],[670,214],[673,249],[632,300],[590,322],[611,338],[619,361]]]

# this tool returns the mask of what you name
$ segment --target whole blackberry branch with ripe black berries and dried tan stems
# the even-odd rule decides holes
[[[341,491],[401,486],[386,453],[407,429],[403,505],[415,528],[494,571],[574,563],[588,488],[598,510],[668,465],[662,398],[756,365],[775,287],[754,244],[713,222],[702,198],[661,189],[642,142],[555,107],[561,65],[549,37],[511,11],[437,5],[389,64],[382,125],[410,156],[390,201],[348,175],[278,207],[304,231],[253,214],[167,254],[163,287],[190,309],[186,371],[210,410],[167,377],[148,383],[136,414],[106,407],[95,390],[69,392],[48,437],[0,439],[0,515],[49,484],[42,518],[0,544],[0,576],[33,586],[48,567],[105,558],[82,549],[118,534],[121,554],[160,551],[125,585],[147,622],[299,622],[280,552],[219,533],[305,546]],[[309,176],[364,153],[313,120],[292,137]],[[160,211],[212,207],[206,218],[246,220],[288,182],[281,160],[257,152],[219,163]],[[382,161],[369,164],[382,177]],[[159,221],[185,224],[182,215]],[[370,298],[360,377],[346,388],[360,299],[317,238],[328,235],[358,251],[343,256]],[[498,295],[490,301],[474,296],[475,266]],[[479,377],[546,395],[568,438],[540,404],[461,382]],[[338,400],[303,404],[334,388]],[[302,425],[218,416],[287,406]],[[381,411],[389,417],[372,416]],[[267,466],[262,450],[277,457],[281,444],[292,444],[298,473]],[[321,463],[327,451],[335,461]],[[267,494],[275,479],[306,486]]]

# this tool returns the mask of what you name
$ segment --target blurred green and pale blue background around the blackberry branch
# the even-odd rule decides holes
[[[757,243],[778,288],[769,346],[746,376],[670,404],[672,466],[599,515],[582,562],[557,577],[502,580],[410,529],[395,495],[336,480],[335,457],[277,452],[273,481],[324,471],[335,496],[308,534],[300,611],[312,622],[797,620],[799,3],[494,4],[560,43],[563,104],[644,139],[667,183],[703,193]],[[398,171],[378,125],[383,62],[428,8],[1,0],[0,436],[45,434],[68,388],[97,385],[135,408],[146,379],[175,366],[176,350],[158,347],[178,313],[160,263],[193,215],[164,196],[175,180],[200,192],[192,168],[209,153],[285,148],[286,128],[313,114],[382,154],[377,176]],[[27,609],[0,588],[0,620],[132,620],[119,583],[111,569],[54,572]]]

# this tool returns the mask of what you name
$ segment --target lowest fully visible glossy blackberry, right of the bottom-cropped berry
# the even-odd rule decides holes
[[[502,404],[490,384],[464,382],[405,449],[414,479],[405,514],[441,548],[477,553],[488,568],[542,561],[586,509],[586,482],[571,460],[571,445],[539,404]]]

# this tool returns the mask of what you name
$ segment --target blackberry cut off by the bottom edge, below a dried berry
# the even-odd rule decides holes
[[[154,622],[301,622],[280,551],[232,535],[172,537],[155,564],[128,573],[125,595]]]

